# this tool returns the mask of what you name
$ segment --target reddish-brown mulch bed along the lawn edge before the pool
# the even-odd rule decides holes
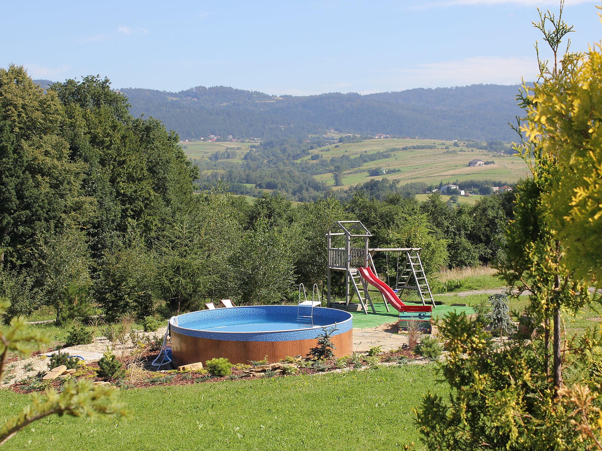
[[[155,357],[157,357],[157,352],[147,352],[142,355],[142,361],[140,366],[144,366],[145,361],[152,361]],[[398,349],[396,352],[384,352],[383,354],[378,355],[378,358],[381,362],[394,361],[396,358],[406,357],[410,360],[417,358],[418,356],[414,354],[414,352],[409,351],[409,349]],[[367,355],[361,355],[362,365],[368,364]],[[131,358],[123,358],[122,360],[123,367],[128,367],[128,364],[132,363]],[[349,363],[346,367],[337,367],[335,366],[335,359],[324,360],[324,367],[322,369],[317,369],[314,367],[299,367],[299,371],[296,375],[314,375],[318,373],[327,373],[332,372],[333,370],[342,369],[342,368],[353,368],[353,364]],[[90,378],[92,381],[101,381],[103,379],[96,377],[95,370],[98,369],[98,363],[90,363],[86,365],[87,372],[80,375],[80,377]],[[78,370],[78,373],[81,373],[83,369]],[[122,384],[122,388],[130,389],[130,388],[147,388],[147,387],[157,387],[160,385],[190,385],[190,384],[199,384],[205,382],[221,382],[221,381],[237,381],[237,380],[249,380],[249,379],[261,379],[266,378],[262,373],[258,375],[249,375],[244,369],[236,369],[232,368],[232,375],[230,376],[222,376],[222,377],[211,377],[208,378],[203,375],[203,370],[200,371],[188,371],[188,372],[180,372],[176,370],[164,370],[158,372],[152,371],[144,371],[144,376],[146,378],[144,380],[138,382],[130,382],[125,381]],[[203,377],[204,376],[204,377]],[[270,376],[272,378],[278,377],[286,377],[286,375],[277,373],[274,376]],[[65,379],[55,379],[54,381],[49,381],[48,383],[52,385],[52,387],[60,390],[63,385]],[[67,379],[68,380],[68,379]],[[153,381],[153,382],[151,382]],[[31,381],[22,381],[16,384],[11,385],[11,389],[16,393],[31,393],[32,391],[39,390],[28,390]],[[46,385],[48,387],[48,385]]]

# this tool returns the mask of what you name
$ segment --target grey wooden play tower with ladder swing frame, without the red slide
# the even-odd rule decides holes
[[[348,310],[349,302],[352,301],[354,296],[357,296],[365,314],[368,314],[366,302],[376,313],[370,296],[370,293],[374,293],[374,290],[369,289],[367,282],[359,274],[358,268],[370,267],[377,275],[373,260],[373,256],[377,252],[405,254],[405,263],[403,263],[403,266],[399,266],[398,263],[396,283],[391,288],[398,290],[399,294],[404,290],[415,290],[420,295],[423,305],[428,303],[434,307],[435,301],[420,259],[421,248],[370,248],[369,239],[371,236],[372,234],[361,221],[337,221],[326,233],[328,241],[327,307],[332,304],[340,304]],[[333,247],[335,242],[338,245],[342,244],[343,247]],[[403,269],[399,271],[400,268]],[[345,301],[335,302],[330,298],[332,271],[345,272]],[[383,296],[382,299],[386,310],[389,311],[385,297]]]

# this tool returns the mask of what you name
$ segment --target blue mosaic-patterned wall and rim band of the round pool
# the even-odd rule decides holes
[[[303,307],[302,307],[303,308]],[[314,325],[316,328],[304,328],[286,331],[270,332],[216,332],[202,330],[202,327],[216,327],[220,322],[228,319],[240,321],[266,321],[273,319],[275,322],[295,322],[297,319],[296,305],[253,305],[248,307],[216,308],[216,310],[201,310],[184,313],[176,317],[178,325],[170,324],[175,333],[213,340],[226,340],[229,342],[286,342],[290,340],[317,339],[324,333],[324,328],[334,327],[337,330],[332,335],[343,334],[350,331],[352,315],[343,310],[326,307],[314,307]],[[187,327],[192,326],[192,327]],[[193,328],[194,327],[194,328]]]

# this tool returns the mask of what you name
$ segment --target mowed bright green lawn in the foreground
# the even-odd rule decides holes
[[[380,367],[346,374],[225,381],[125,390],[132,418],[49,417],[6,450],[393,450],[419,443],[412,408],[444,394],[436,367]],[[0,418],[24,395],[2,392]]]

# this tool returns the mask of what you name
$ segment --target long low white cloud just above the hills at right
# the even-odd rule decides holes
[[[517,84],[535,78],[537,61],[530,57],[470,57],[391,69],[373,80],[382,90],[435,88],[470,84]],[[399,88],[392,88],[392,87]],[[373,91],[374,92],[374,91]]]

